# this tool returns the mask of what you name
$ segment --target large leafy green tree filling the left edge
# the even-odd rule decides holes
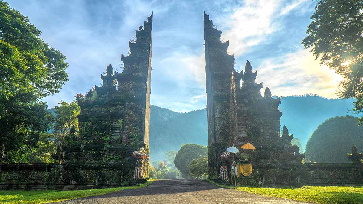
[[[0,0],[1,159],[36,146],[52,124],[43,97],[58,93],[66,81],[66,57],[40,38],[27,17]]]

